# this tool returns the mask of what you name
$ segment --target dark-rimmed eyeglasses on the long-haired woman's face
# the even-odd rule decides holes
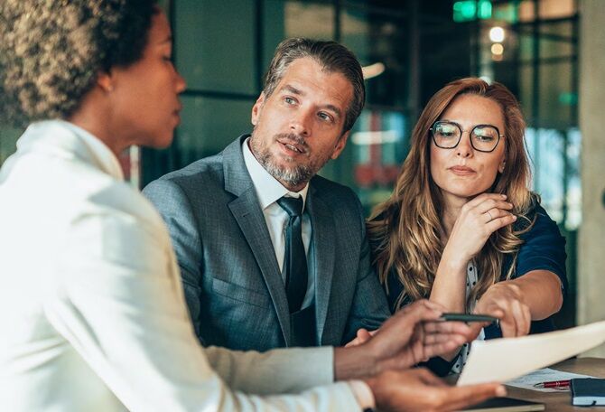
[[[437,121],[431,127],[431,136],[437,147],[442,149],[453,149],[462,138],[461,126],[458,123]],[[498,127],[492,125],[477,125],[470,130],[470,145],[479,152],[493,152],[500,141]]]

